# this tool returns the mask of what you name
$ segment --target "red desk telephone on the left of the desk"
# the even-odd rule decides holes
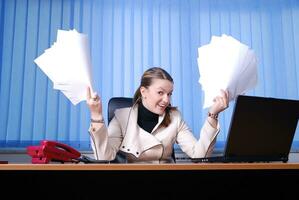
[[[50,161],[78,162],[81,153],[62,143],[42,140],[40,146],[28,146],[27,153],[34,164],[49,163]]]

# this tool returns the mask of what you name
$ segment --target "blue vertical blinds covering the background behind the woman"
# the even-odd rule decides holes
[[[298,18],[297,0],[0,1],[1,147],[54,139],[89,148],[85,102],[73,106],[34,64],[55,42],[58,29],[88,35],[104,116],[112,96],[132,96],[142,73],[162,66],[175,81],[172,104],[199,137],[206,110],[197,48],[212,35],[232,35],[258,57],[259,82],[248,94],[298,99]],[[232,110],[233,102],[220,116],[220,146]]]

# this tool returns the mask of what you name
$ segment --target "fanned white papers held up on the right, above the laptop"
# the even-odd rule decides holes
[[[203,108],[210,107],[220,89],[228,90],[229,101],[257,84],[257,58],[253,50],[231,36],[212,36],[198,48],[199,83],[204,91]]]

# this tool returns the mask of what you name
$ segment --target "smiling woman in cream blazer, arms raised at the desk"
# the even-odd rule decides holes
[[[113,160],[121,151],[128,163],[171,163],[174,143],[191,158],[209,156],[219,132],[218,114],[228,107],[228,93],[220,91],[215,97],[196,139],[177,108],[171,107],[172,91],[173,79],[165,70],[148,69],[135,92],[134,105],[116,110],[106,127],[101,99],[88,89],[89,133],[95,158]]]

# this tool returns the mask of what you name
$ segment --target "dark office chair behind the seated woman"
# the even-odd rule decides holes
[[[129,97],[112,97],[108,102],[108,124],[114,117],[114,111],[119,108],[131,107],[133,105],[133,98]],[[174,148],[172,149],[172,159],[176,162]],[[117,153],[116,158],[112,163],[126,162],[126,158],[123,154]]]

